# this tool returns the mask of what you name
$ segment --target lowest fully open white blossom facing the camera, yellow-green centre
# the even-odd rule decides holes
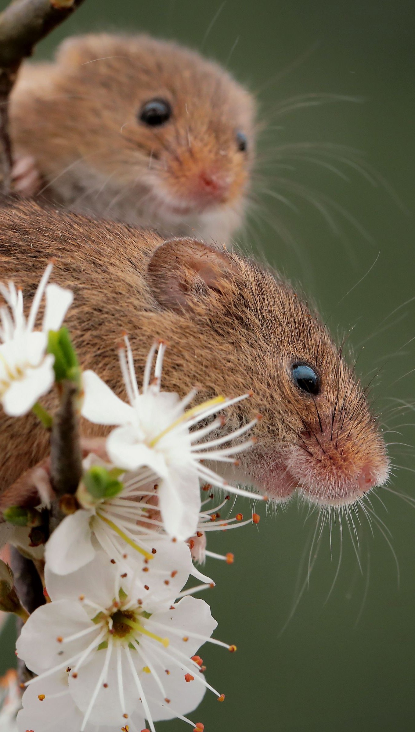
[[[206,688],[223,696],[204,679],[196,651],[209,640],[234,646],[210,639],[217,624],[206,602],[187,591],[176,601],[184,549],[171,542],[168,574],[157,555],[149,563],[138,555],[131,574],[102,552],[65,577],[46,565],[51,602],[32,613],[17,643],[38,674],[23,695],[19,732],[139,732],[146,721],[155,732],[155,721],[174,717],[203,728],[184,714]]]

